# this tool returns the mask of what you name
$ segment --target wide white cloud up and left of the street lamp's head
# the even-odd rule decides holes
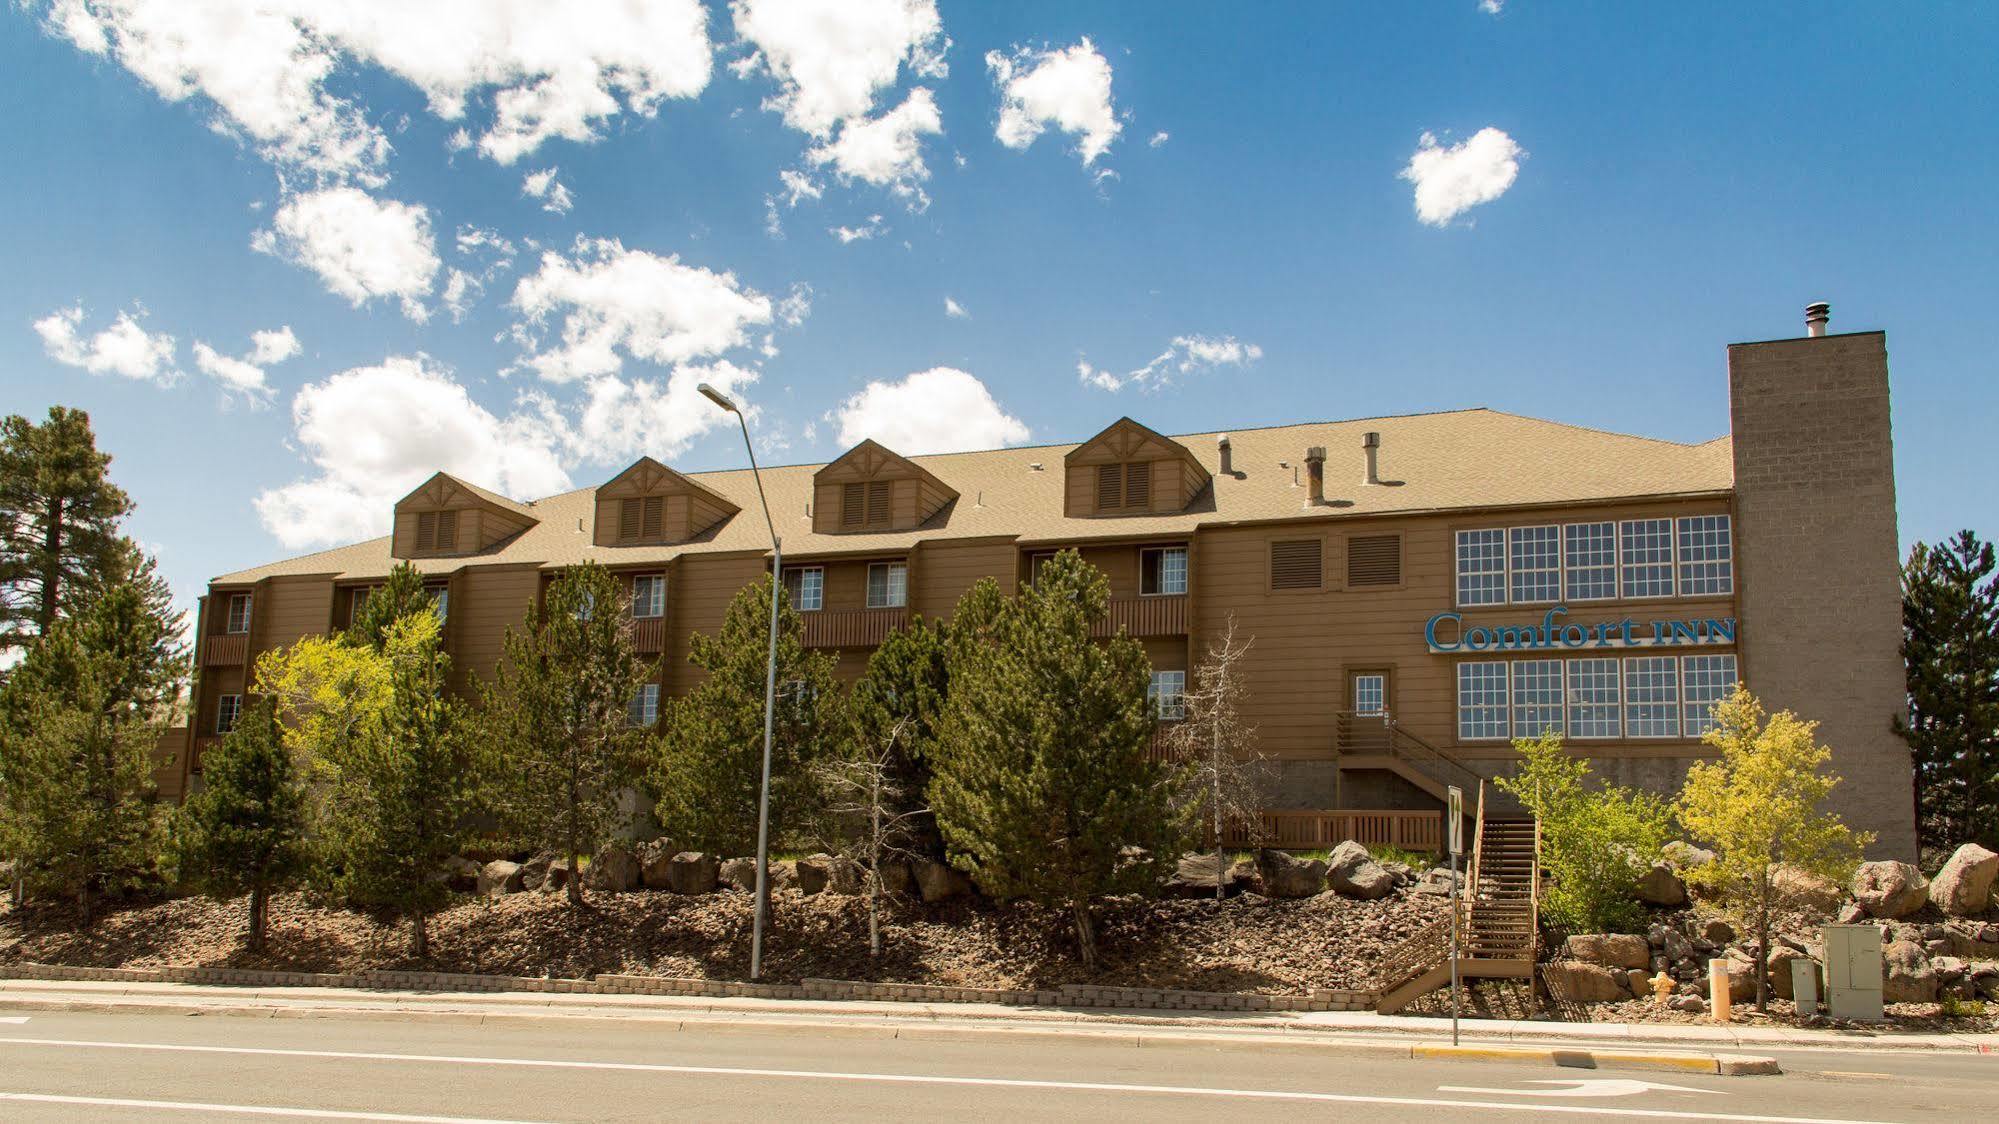
[[[616,374],[620,352],[656,364],[714,358],[746,346],[750,328],[774,314],[736,274],[626,250],[616,238],[578,238],[568,256],[544,252],[512,304],[526,318],[514,326],[522,362],[550,382]],[[542,338],[552,316],[562,320],[560,342]]]

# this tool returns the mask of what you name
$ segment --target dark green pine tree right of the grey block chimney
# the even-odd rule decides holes
[[[1963,530],[1915,544],[1901,574],[1901,656],[1925,848],[1999,848],[1999,576],[1993,546]]]

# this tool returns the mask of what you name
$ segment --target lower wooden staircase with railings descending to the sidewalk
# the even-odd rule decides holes
[[[1375,1010],[1397,1012],[1449,986],[1451,926],[1457,926],[1457,976],[1463,980],[1533,980],[1541,908],[1541,824],[1487,818],[1485,786],[1471,836],[1471,868],[1451,912],[1381,960]]]

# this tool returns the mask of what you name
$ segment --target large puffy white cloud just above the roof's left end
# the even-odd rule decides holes
[[[292,426],[316,474],[256,498],[288,548],[384,534],[394,502],[440,470],[522,498],[570,486],[560,422],[532,406],[500,418],[422,354],[302,388]]]

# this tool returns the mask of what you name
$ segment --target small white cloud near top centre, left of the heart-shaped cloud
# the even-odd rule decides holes
[[[1111,106],[1111,64],[1083,42],[1061,50],[1013,48],[986,52],[1000,86],[994,136],[1007,148],[1027,148],[1047,126],[1075,134],[1075,154],[1093,164],[1109,150],[1123,122]]]

